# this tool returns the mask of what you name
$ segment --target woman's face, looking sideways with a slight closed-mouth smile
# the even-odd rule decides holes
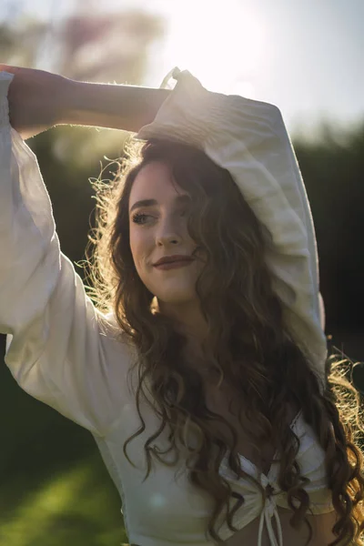
[[[165,163],[154,161],[139,171],[129,197],[130,248],[139,277],[159,303],[197,299],[202,261],[192,257],[196,243],[187,232],[189,207],[189,195]],[[167,257],[176,261],[156,265]]]

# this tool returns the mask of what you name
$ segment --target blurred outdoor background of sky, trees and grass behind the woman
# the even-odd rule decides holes
[[[0,61],[90,82],[159,86],[173,66],[277,105],[314,217],[329,347],[364,360],[362,0],[2,0]],[[126,134],[58,126],[27,141],[63,252],[84,256],[95,200]],[[83,269],[76,265],[83,276]],[[1,339],[5,353],[4,337]],[[0,544],[116,546],[121,502],[92,436],[0,368]],[[358,376],[359,377],[359,376]]]

